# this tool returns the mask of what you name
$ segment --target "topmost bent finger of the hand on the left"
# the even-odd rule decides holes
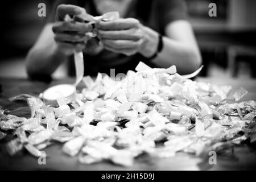
[[[65,15],[80,15],[86,13],[85,9],[75,5],[59,5],[56,10],[56,20],[64,20]]]

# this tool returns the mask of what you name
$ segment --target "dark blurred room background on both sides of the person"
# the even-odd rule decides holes
[[[24,65],[26,53],[47,20],[47,16],[38,16],[38,4],[42,2],[46,3],[46,14],[49,16],[54,1],[23,0],[2,4],[0,77],[27,77]],[[255,78],[256,1],[186,2],[189,20],[203,56],[201,76]],[[209,3],[216,3],[216,17],[208,16]],[[62,65],[53,77],[65,77],[67,73],[67,66]]]

